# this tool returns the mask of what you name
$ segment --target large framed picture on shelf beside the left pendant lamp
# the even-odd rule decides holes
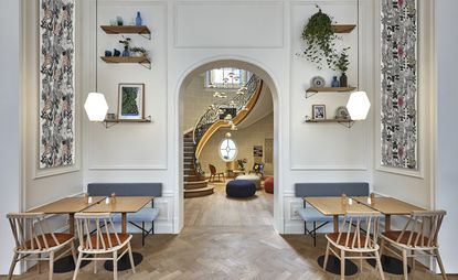
[[[119,84],[118,119],[143,118],[145,84]]]

